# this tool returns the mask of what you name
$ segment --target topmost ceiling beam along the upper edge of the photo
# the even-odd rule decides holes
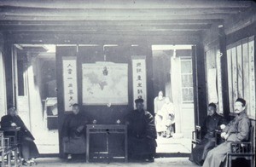
[[[0,6],[45,9],[201,9],[248,8],[253,1],[205,0],[1,0]]]

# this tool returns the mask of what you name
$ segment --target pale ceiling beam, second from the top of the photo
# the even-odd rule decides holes
[[[90,17],[158,17],[162,15],[199,15],[199,14],[238,14],[241,8],[212,8],[212,9],[30,9],[30,8],[2,8],[0,15],[23,16],[90,16]]]

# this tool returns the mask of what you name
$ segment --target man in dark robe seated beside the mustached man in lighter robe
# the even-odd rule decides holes
[[[208,116],[201,127],[201,135],[204,135],[201,142],[192,149],[189,160],[195,164],[202,165],[207,153],[215,147],[215,130],[224,128],[226,124],[224,117],[216,112],[216,105],[210,103],[207,108]]]

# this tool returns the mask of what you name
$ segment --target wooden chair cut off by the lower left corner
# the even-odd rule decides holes
[[[5,157],[7,157],[7,164],[11,166],[11,149],[9,147],[9,138],[3,136],[3,131],[0,131],[0,155],[1,155],[1,166],[5,166]]]

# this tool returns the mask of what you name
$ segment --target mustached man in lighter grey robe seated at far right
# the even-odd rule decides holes
[[[238,98],[235,102],[236,117],[224,128],[221,136],[224,143],[213,148],[207,153],[204,167],[218,167],[226,164],[226,154],[231,150],[231,143],[234,141],[247,141],[249,137],[250,120],[245,111],[246,101]]]

